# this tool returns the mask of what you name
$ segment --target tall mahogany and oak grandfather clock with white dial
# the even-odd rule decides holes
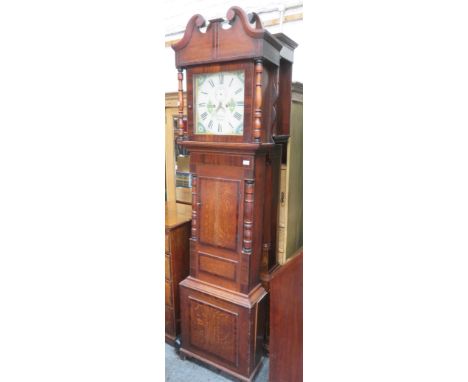
[[[174,44],[178,143],[190,152],[190,275],[180,285],[182,357],[251,381],[263,359],[277,265],[279,176],[289,134],[292,54],[255,13],[193,16]],[[187,123],[183,121],[184,71]]]

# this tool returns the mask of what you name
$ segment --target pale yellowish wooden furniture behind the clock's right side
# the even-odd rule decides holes
[[[278,262],[283,264],[302,247],[302,84],[292,84],[289,140],[281,164]]]

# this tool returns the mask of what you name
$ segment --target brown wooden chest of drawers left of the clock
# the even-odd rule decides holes
[[[179,283],[189,274],[191,206],[166,203],[165,290],[166,342],[174,344],[180,333]]]

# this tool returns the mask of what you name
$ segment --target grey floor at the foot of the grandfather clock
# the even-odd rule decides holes
[[[268,381],[269,362],[266,357],[255,382]],[[166,381],[170,382],[232,382],[236,381],[229,375],[217,369],[206,366],[196,360],[182,361],[174,347],[166,344]]]

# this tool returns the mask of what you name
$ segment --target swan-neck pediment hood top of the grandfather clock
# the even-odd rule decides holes
[[[205,26],[203,32],[201,29]],[[184,68],[259,57],[278,65],[283,46],[263,28],[258,15],[249,17],[241,8],[231,7],[226,22],[218,18],[207,25],[203,16],[194,15],[187,24],[184,37],[172,48],[176,52],[176,66]]]

